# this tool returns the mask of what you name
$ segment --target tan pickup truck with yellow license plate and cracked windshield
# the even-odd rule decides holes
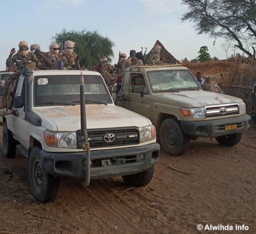
[[[241,99],[203,91],[188,68],[178,65],[126,69],[117,105],[149,118],[162,149],[175,156],[198,137],[234,146],[251,123]]]

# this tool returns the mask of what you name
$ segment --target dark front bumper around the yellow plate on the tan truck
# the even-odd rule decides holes
[[[237,129],[225,130],[225,126],[237,125]],[[245,132],[251,124],[250,115],[206,121],[181,121],[183,132],[189,136],[218,137]]]

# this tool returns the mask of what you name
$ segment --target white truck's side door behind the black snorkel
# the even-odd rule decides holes
[[[25,79],[19,78],[17,91],[15,97],[21,97],[22,102],[25,103]],[[15,108],[15,105],[14,105]],[[24,106],[15,108],[18,110],[18,116],[14,116],[14,137],[26,148],[28,148],[28,122],[25,121]]]

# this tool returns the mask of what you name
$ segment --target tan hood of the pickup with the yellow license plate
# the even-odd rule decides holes
[[[206,105],[228,104],[228,103],[241,103],[240,98],[229,95],[218,94],[206,91],[180,91],[173,93],[161,93],[156,96],[174,101],[180,101],[190,107],[204,107]],[[168,100],[167,100],[168,101]]]

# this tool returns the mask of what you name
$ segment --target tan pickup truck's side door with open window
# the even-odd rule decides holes
[[[125,108],[150,118],[150,95],[143,73],[131,72],[128,85],[124,96]],[[147,94],[141,97],[141,92]]]

